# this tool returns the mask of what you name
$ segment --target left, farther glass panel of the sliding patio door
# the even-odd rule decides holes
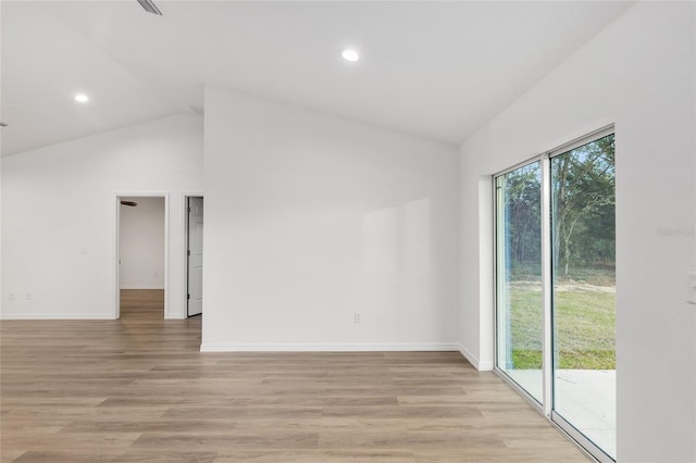
[[[542,347],[542,170],[496,177],[497,367],[539,403]]]

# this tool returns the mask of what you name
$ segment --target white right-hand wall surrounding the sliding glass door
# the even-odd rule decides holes
[[[489,176],[616,123],[622,462],[696,461],[695,17],[635,4],[461,147],[460,336],[492,365]]]

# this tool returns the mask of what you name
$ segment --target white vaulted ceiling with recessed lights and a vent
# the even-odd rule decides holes
[[[631,2],[157,4],[2,1],[2,154],[191,112],[207,84],[458,143]]]

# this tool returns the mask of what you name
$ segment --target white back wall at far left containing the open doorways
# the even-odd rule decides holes
[[[183,195],[202,191],[202,121],[175,115],[2,159],[5,318],[110,318],[116,193],[169,195],[169,317],[184,317]],[[146,195],[147,196],[147,195]]]

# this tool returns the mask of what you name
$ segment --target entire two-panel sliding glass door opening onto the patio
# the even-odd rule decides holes
[[[614,137],[495,177],[496,367],[600,461],[616,459]]]

